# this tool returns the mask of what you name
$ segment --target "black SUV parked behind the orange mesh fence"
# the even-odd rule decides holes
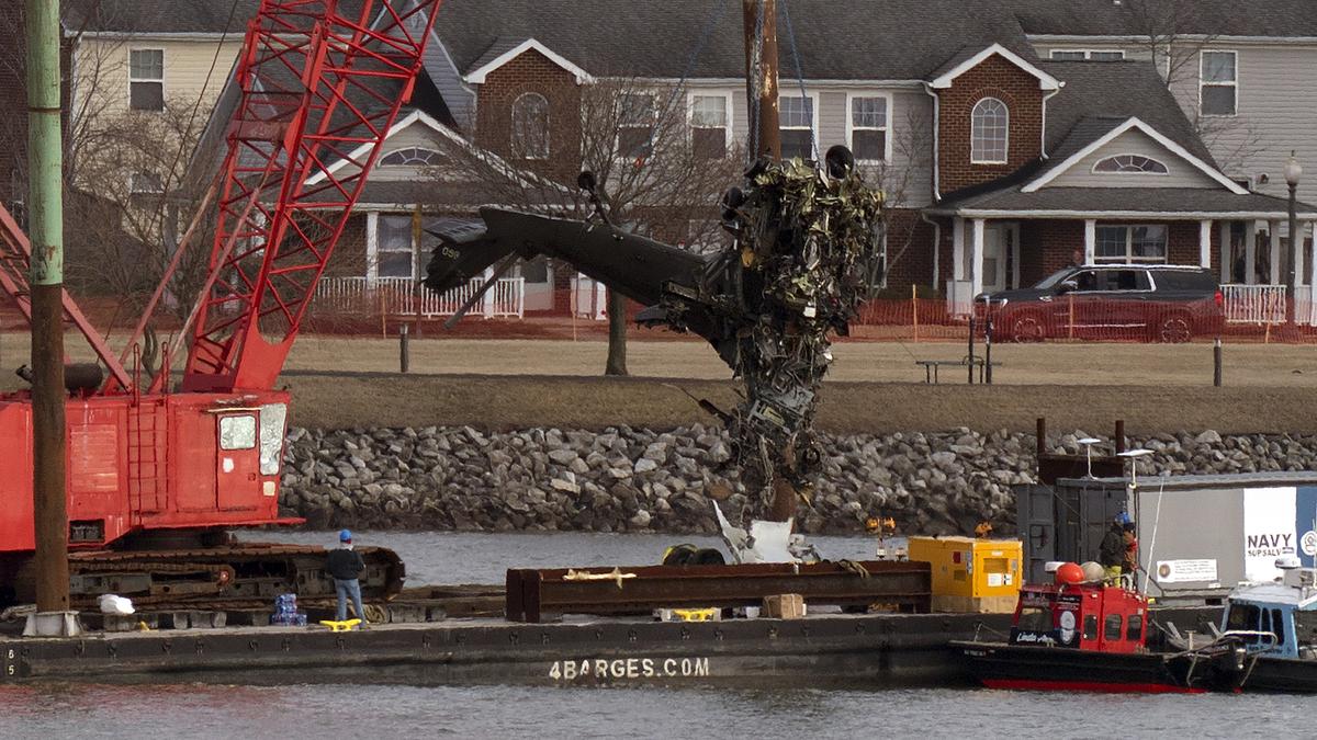
[[[1204,267],[1084,265],[1031,288],[980,295],[976,313],[993,317],[993,337],[1184,342],[1223,323],[1221,286]]]

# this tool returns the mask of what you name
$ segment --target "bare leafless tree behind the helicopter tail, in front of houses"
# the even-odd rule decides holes
[[[685,93],[673,86],[626,78],[585,86],[579,167],[591,171],[601,186],[603,217],[694,249],[719,238],[716,204],[735,182],[743,158],[727,128],[730,111],[720,121],[709,113],[693,119]],[[470,178],[483,178],[489,200],[532,212],[589,217],[576,182],[564,182],[562,172],[574,167],[536,167],[548,130],[547,124],[543,130],[535,124],[514,122],[506,158],[474,150],[469,157]],[[489,178],[490,167],[506,176]],[[627,374],[626,330],[624,299],[610,291],[605,374]]]

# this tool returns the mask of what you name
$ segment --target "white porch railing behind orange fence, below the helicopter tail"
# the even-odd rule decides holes
[[[471,278],[465,286],[435,292],[411,278],[321,278],[315,305],[335,312],[370,312],[391,316],[452,316],[483,283]],[[468,312],[486,319],[525,316],[525,279],[500,278]]]

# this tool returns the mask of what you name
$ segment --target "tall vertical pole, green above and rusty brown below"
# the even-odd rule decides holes
[[[68,610],[59,0],[28,0],[26,25],[34,565],[37,611],[59,612]]]

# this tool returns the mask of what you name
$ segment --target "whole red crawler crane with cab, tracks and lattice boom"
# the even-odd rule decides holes
[[[184,594],[254,599],[277,593],[281,579],[306,595],[332,593],[319,577],[317,549],[233,545],[225,528],[300,521],[278,514],[288,395],[274,382],[411,97],[439,5],[262,0],[233,79],[238,101],[212,186],[219,223],[204,288],[179,332],[187,362],[176,390],[167,346],[151,379],[136,366],[182,246],[120,357],[65,294],[66,319],[108,373],[104,383],[100,373],[68,373],[75,602],[107,590],[148,603]],[[0,208],[0,291],[30,320],[29,255],[26,237]],[[34,548],[28,391],[0,395],[0,445],[3,602],[5,590],[26,595]],[[396,591],[402,564],[389,550],[374,554],[363,585]]]

